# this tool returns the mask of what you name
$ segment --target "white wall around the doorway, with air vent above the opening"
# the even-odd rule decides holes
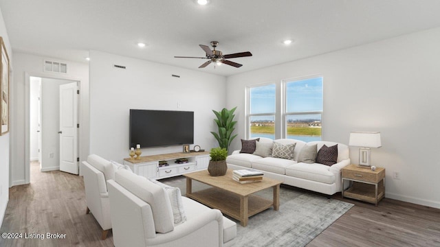
[[[87,63],[67,62],[67,75],[43,71],[43,60],[58,60],[56,58],[43,58],[31,54],[14,53],[14,93],[11,111],[11,176],[12,185],[29,183],[29,174],[25,169],[26,149],[25,135],[29,129],[25,123],[25,104],[28,102],[29,81],[26,81],[26,73],[30,76],[41,78],[58,78],[66,80],[80,80],[80,161],[89,154],[89,66]],[[59,61],[59,60],[58,60]],[[29,114],[29,113],[28,113]],[[15,130],[15,131],[14,131]],[[28,147],[29,148],[29,147]]]

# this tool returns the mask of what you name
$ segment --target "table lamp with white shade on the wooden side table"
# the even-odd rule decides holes
[[[359,165],[371,166],[371,148],[380,148],[380,132],[350,132],[349,145],[359,148]]]

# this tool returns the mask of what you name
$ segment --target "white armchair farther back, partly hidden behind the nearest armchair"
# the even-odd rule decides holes
[[[110,161],[96,154],[87,157],[82,167],[85,186],[86,213],[92,213],[102,228],[102,239],[111,229],[110,201],[106,180],[113,179],[115,172]]]

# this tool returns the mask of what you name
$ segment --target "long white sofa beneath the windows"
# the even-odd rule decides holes
[[[277,142],[283,145],[296,143],[293,160],[285,158],[261,157],[255,154],[240,153],[240,150],[232,152],[226,163],[230,169],[258,169],[265,176],[283,181],[283,184],[292,185],[328,196],[341,191],[341,169],[350,164],[349,147],[342,143],[330,141],[304,141],[295,139],[267,139],[260,138],[260,142]],[[338,144],[338,160],[334,165],[322,165],[320,163],[298,163],[298,154],[305,145],[317,144],[318,150],[325,144],[327,147]],[[344,187],[348,187],[348,184]]]

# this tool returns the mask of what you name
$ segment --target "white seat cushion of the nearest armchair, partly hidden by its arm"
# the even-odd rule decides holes
[[[184,203],[186,215],[188,221],[196,217],[199,217],[200,213],[203,211],[212,210],[205,205],[191,200],[190,198],[182,197],[182,202]],[[179,227],[179,226],[177,226]],[[223,243],[226,243],[236,237],[236,224],[232,220],[223,216]]]

